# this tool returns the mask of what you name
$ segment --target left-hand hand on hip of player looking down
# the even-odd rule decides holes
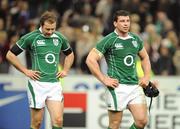
[[[40,79],[40,73],[39,71],[34,71],[34,70],[26,70],[25,75],[32,80],[39,80]]]

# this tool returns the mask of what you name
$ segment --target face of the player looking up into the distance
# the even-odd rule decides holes
[[[119,34],[127,34],[130,28],[129,16],[119,16],[117,21],[114,21],[114,26],[116,27]]]

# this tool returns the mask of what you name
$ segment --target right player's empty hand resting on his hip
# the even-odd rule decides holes
[[[119,81],[117,79],[105,76],[103,79],[103,84],[107,87],[116,88],[119,85]]]

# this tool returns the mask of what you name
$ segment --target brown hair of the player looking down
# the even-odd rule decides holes
[[[46,11],[41,15],[40,18],[40,25],[44,25],[44,22],[48,21],[50,23],[57,22],[57,16],[54,12],[52,11]]]

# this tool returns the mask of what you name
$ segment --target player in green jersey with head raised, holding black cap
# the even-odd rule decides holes
[[[108,129],[119,129],[123,111],[130,110],[134,123],[130,129],[144,129],[148,121],[143,87],[150,80],[151,65],[143,41],[129,32],[130,16],[125,10],[115,12],[115,30],[99,41],[86,59],[92,74],[107,88],[105,97],[109,116]],[[104,75],[99,60],[105,57],[108,71]],[[138,80],[136,58],[141,59],[144,76]]]

